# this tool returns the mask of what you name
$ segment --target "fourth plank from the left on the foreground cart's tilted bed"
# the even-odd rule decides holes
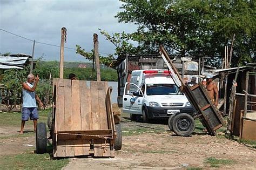
[[[82,130],[90,130],[89,107],[91,106],[88,104],[88,100],[91,99],[88,97],[88,91],[90,91],[90,89],[87,89],[86,81],[80,81],[79,86]]]

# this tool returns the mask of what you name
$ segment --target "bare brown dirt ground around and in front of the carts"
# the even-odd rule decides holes
[[[122,118],[122,129],[123,147],[115,158],[70,158],[63,169],[211,169],[205,162],[210,157],[232,161],[219,169],[256,169],[256,149],[224,137],[204,133],[179,137],[166,124],[136,123],[128,118]],[[0,156],[35,147],[35,136],[18,135],[18,130],[0,125]],[[31,134],[33,127],[26,130]]]

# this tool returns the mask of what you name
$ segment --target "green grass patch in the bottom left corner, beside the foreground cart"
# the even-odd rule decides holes
[[[0,157],[0,169],[62,169],[68,159],[51,159],[48,153],[24,153]]]

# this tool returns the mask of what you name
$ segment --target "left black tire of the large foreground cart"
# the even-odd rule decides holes
[[[47,135],[45,123],[37,123],[36,127],[36,153],[46,153]]]

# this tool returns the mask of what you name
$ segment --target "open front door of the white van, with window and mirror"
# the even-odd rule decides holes
[[[123,112],[142,114],[142,100],[144,94],[136,84],[125,83],[123,95]]]

